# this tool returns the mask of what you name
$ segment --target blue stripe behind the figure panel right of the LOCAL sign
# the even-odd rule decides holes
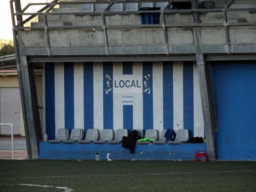
[[[143,129],[153,129],[153,63],[143,62],[143,76],[150,75],[150,94],[143,94]]]

